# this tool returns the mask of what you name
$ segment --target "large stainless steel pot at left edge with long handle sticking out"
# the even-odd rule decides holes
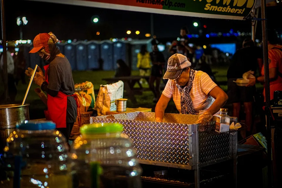
[[[17,122],[29,120],[28,105],[0,105],[0,129],[13,128]]]

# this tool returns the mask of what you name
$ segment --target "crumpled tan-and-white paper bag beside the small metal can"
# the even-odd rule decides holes
[[[115,100],[123,97],[123,82],[101,85],[96,98],[94,110],[97,110],[98,116],[106,115],[108,111],[115,111],[117,106]]]

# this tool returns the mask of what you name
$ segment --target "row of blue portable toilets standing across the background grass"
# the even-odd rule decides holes
[[[151,40],[138,41],[89,41],[76,43],[58,43],[60,51],[68,58],[72,70],[93,70],[99,69],[99,59],[103,59],[103,70],[115,70],[116,61],[124,60],[129,64],[131,60],[132,70],[137,70],[137,53],[140,52],[142,45],[147,45],[147,50],[152,51]],[[33,45],[24,46],[26,67],[35,67],[37,64],[41,68],[45,65],[38,54],[28,53]],[[166,53],[164,50],[163,53]],[[131,52],[131,53],[130,53]],[[166,57],[166,54],[164,54]]]

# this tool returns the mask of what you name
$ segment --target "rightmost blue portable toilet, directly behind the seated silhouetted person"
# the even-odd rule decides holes
[[[117,60],[122,59],[128,65],[128,43],[127,41],[118,41],[114,43],[114,69],[117,69]]]

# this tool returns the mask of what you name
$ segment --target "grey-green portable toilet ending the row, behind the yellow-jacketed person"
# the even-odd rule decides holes
[[[131,41],[131,58],[132,58],[131,68],[132,68],[132,70],[138,70],[138,68],[137,68],[137,54],[140,52],[142,45],[146,45],[147,51],[152,52],[152,45],[151,45],[152,40],[153,39],[132,40]]]

